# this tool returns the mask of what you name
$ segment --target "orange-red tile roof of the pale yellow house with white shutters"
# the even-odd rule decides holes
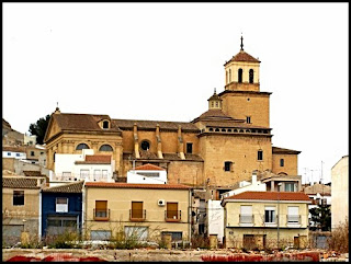
[[[303,192],[244,192],[225,199],[264,199],[264,200],[306,200],[310,198]]]

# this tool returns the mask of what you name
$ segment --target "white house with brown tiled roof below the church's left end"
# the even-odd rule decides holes
[[[111,156],[94,154],[93,149],[83,149],[81,154],[55,154],[55,173],[50,186],[63,182],[115,182],[115,161]]]

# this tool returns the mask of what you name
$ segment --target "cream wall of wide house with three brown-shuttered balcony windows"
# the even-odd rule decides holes
[[[158,199],[178,202],[181,210],[181,222],[166,222],[167,206],[158,206]],[[110,209],[109,221],[94,221],[93,209],[95,200],[107,200]],[[144,202],[146,220],[129,221],[132,202]],[[160,239],[161,231],[181,231],[183,240],[189,240],[189,191],[186,190],[141,190],[141,188],[92,188],[86,187],[86,226],[87,234],[91,230],[122,230],[125,226],[149,227],[150,239]],[[154,237],[154,238],[152,238]]]

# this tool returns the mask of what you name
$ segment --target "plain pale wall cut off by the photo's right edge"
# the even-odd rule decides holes
[[[331,168],[331,230],[349,220],[349,156]]]

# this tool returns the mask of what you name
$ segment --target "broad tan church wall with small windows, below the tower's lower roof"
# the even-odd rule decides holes
[[[210,185],[230,185],[251,177],[253,170],[272,169],[270,137],[256,136],[204,136],[200,138],[204,161],[204,179]],[[263,161],[257,160],[258,150],[263,150]],[[233,171],[224,171],[224,162],[231,161]]]

